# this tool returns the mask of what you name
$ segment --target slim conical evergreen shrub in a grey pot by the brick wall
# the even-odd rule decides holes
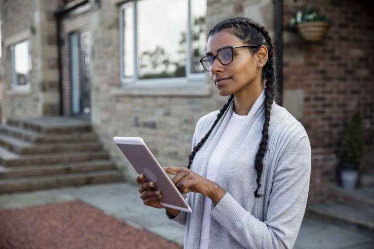
[[[357,109],[340,147],[340,178],[343,189],[348,191],[355,189],[363,154],[362,111]]]

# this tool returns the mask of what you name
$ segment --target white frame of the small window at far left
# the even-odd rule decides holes
[[[22,43],[22,42],[25,42],[27,41],[28,42],[28,47],[29,47],[29,54],[28,54],[28,59],[29,59],[29,72],[28,72],[28,77],[26,77],[26,80],[27,80],[27,83],[25,85],[19,85],[18,84],[18,80],[17,80],[17,74],[16,74],[16,61],[15,61],[15,57],[14,57],[14,47],[19,44],[19,43]],[[32,71],[32,61],[31,61],[31,42],[30,42],[30,39],[24,39],[24,40],[21,40],[21,41],[18,41],[16,43],[13,43],[11,45],[9,45],[9,58],[10,58],[10,67],[9,67],[9,80],[10,80],[10,84],[11,84],[11,88],[12,89],[16,89],[16,90],[27,90],[27,89],[30,89],[30,86],[31,86],[31,71]]]

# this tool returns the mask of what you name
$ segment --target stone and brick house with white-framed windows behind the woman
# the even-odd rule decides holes
[[[134,171],[114,136],[143,137],[162,165],[184,166],[196,122],[226,101],[198,64],[212,24],[247,16],[276,38],[273,0],[0,2],[3,122],[85,117],[129,180]],[[368,147],[373,143],[374,6],[314,0],[334,22],[324,39],[309,43],[288,25],[308,1],[280,2],[282,104],[309,135],[310,198],[318,200],[336,184],[339,143],[356,107],[364,110]],[[17,46],[28,58],[18,76],[11,63]]]

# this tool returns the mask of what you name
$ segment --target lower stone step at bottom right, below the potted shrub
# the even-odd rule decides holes
[[[307,217],[332,222],[374,236],[374,212],[357,210],[345,205],[314,203],[307,205]]]

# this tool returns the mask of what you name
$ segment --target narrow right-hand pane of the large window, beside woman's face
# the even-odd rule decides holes
[[[206,0],[191,0],[192,72],[204,72],[200,59],[206,53]]]

